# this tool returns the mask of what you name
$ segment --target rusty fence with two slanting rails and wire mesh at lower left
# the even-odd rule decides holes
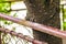
[[[66,32],[65,31],[59,31],[58,29],[52,28],[52,26],[46,26],[43,24],[30,22],[26,20],[21,20],[18,18],[13,18],[10,15],[6,15],[3,13],[0,13],[0,18],[3,18],[8,21],[12,21],[14,23],[25,25],[29,28],[32,28],[33,30],[47,33],[61,38],[66,38]],[[25,41],[25,42],[24,42]],[[34,40],[28,35],[23,35],[22,33],[16,33],[14,31],[10,31],[8,29],[1,28],[0,26],[0,44],[47,44],[46,42],[41,42],[37,40]]]

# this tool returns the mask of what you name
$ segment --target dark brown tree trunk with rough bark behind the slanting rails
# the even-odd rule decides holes
[[[59,0],[24,0],[24,3],[26,20],[59,29]],[[34,31],[34,37],[48,44],[62,44],[61,38],[38,31]]]

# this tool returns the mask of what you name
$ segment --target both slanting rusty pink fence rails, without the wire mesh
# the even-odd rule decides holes
[[[21,20],[21,19],[18,19],[18,18],[13,18],[13,16],[2,14],[2,13],[0,13],[0,18],[3,18],[6,20],[12,21],[12,22],[15,22],[15,23],[21,24],[21,25],[32,28],[33,30],[41,31],[43,33],[47,33],[47,34],[51,34],[51,35],[54,35],[54,36],[57,36],[57,37],[61,37],[61,38],[66,38],[66,32],[65,31],[59,31],[58,29],[55,29],[55,28],[52,28],[52,26],[46,26],[46,25],[43,25],[43,24]],[[24,38],[29,42],[32,42],[33,44],[46,44],[46,43],[36,41],[36,40],[28,37],[28,36],[23,36],[22,34],[18,34],[13,31],[4,30],[2,28],[0,28],[0,31],[3,32],[3,33],[9,33],[9,34],[19,36],[19,37]]]

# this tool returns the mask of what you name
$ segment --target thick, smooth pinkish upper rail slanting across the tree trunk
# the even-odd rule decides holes
[[[9,20],[9,21],[12,21],[12,22],[25,25],[25,26],[30,26],[33,30],[41,31],[43,33],[47,33],[47,34],[51,34],[51,35],[54,35],[54,36],[57,36],[57,37],[61,37],[61,38],[66,38],[66,32],[59,31],[58,29],[55,29],[55,28],[52,28],[52,26],[46,26],[46,25],[43,25],[43,24],[21,20],[21,19],[18,19],[18,18],[13,18],[13,16],[2,14],[2,13],[0,13],[0,18],[3,18],[6,20]]]

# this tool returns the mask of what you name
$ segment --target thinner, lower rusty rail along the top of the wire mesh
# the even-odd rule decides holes
[[[3,33],[8,33],[8,34],[11,34],[11,35],[21,37],[23,40],[26,40],[29,42],[32,42],[33,44],[47,44],[46,42],[41,42],[41,41],[34,40],[34,38],[31,38],[29,36],[23,35],[22,33],[15,33],[14,31],[10,31],[8,29],[0,28],[0,31],[3,32]]]

